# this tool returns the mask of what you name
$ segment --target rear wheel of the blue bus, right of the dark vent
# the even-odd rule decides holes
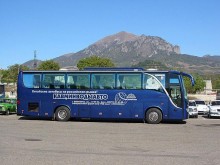
[[[70,110],[65,106],[58,107],[55,111],[57,121],[68,121],[70,119]]]

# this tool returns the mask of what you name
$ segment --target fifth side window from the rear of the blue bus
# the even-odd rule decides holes
[[[141,89],[141,74],[123,73],[117,75],[118,89]]]

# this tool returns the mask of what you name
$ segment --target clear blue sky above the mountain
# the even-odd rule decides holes
[[[78,52],[127,31],[220,55],[219,0],[0,0],[0,68]]]

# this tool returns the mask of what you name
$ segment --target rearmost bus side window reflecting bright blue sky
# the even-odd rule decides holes
[[[40,74],[24,74],[23,83],[27,88],[40,88]]]

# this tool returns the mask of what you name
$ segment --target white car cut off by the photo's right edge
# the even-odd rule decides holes
[[[220,100],[210,102],[208,117],[220,117]]]

